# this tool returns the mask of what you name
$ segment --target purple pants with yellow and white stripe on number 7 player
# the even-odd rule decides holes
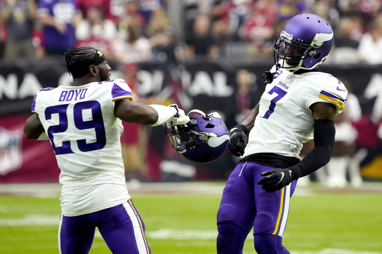
[[[243,253],[244,241],[254,229],[254,247],[259,254],[289,253],[282,235],[289,212],[289,200],[297,181],[276,192],[265,192],[257,182],[260,174],[274,167],[253,162],[238,164],[223,190],[217,212],[217,253]]]

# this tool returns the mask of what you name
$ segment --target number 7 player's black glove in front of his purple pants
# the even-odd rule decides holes
[[[258,185],[262,185],[262,189],[266,192],[281,190],[295,180],[295,174],[290,169],[271,169],[262,172],[260,175],[267,175],[257,182]]]

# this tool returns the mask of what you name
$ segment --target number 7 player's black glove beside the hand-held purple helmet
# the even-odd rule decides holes
[[[242,156],[244,148],[247,146],[247,127],[238,124],[230,130],[230,143],[228,143],[228,150],[235,156]]]

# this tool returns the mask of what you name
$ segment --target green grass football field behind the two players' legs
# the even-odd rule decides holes
[[[57,188],[49,195],[40,192],[37,196],[43,197],[36,197],[28,196],[36,195],[33,190],[20,194],[4,191],[3,186],[0,253],[58,253]],[[215,216],[222,188],[223,183],[188,183],[129,190],[146,224],[152,253],[216,253]],[[314,186],[296,190],[291,198],[284,246],[292,254],[382,254],[381,190],[377,183],[359,189]],[[111,253],[97,231],[89,253]],[[256,253],[251,234],[244,246],[244,254],[249,253]]]

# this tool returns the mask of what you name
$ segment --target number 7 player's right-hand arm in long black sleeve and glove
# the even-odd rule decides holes
[[[262,172],[261,175],[265,177],[257,184],[262,185],[263,190],[278,191],[293,180],[309,175],[329,162],[335,136],[336,108],[330,103],[317,102],[310,109],[314,117],[314,148],[295,166]]]

